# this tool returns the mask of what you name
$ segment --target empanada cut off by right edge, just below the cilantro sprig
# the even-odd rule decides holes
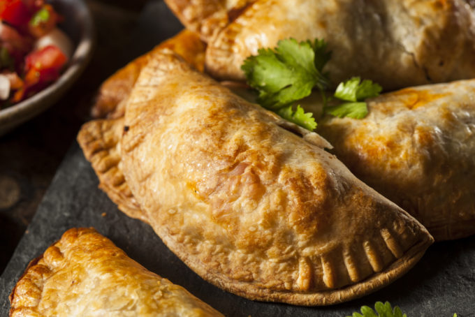
[[[370,99],[365,119],[325,117],[318,132],[363,182],[436,240],[475,233],[475,80]]]

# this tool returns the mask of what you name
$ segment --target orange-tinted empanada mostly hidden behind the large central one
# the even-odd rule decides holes
[[[203,71],[205,61],[205,43],[199,36],[191,31],[183,30],[173,38],[157,45],[152,51],[134,59],[124,68],[119,69],[114,75],[101,85],[96,103],[92,108],[95,118],[118,118],[124,115],[124,105],[129,93],[136,83],[138,74],[152,52],[168,48],[184,58],[189,64]]]

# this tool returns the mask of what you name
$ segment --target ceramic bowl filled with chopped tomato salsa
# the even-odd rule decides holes
[[[94,36],[82,0],[2,0],[0,14],[2,135],[71,87],[91,57]]]

